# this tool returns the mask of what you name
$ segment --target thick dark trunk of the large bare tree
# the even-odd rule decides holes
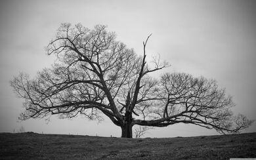
[[[133,121],[132,113],[130,111],[126,111],[125,124],[121,126],[122,138],[133,138],[133,125],[131,124],[132,121]]]

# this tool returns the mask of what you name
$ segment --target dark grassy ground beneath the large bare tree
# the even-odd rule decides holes
[[[177,138],[0,133],[0,159],[229,159],[256,157],[256,132]]]

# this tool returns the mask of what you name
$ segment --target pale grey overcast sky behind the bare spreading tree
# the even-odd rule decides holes
[[[51,121],[17,121],[23,110],[9,81],[20,71],[33,77],[51,67],[55,57],[44,47],[62,22],[96,24],[116,31],[117,40],[148,57],[160,54],[171,67],[165,72],[186,72],[218,81],[234,98],[235,114],[255,119],[256,18],[255,1],[0,1],[0,132],[26,131],[121,136],[121,129],[106,121],[82,117]],[[159,73],[161,74],[161,73]],[[255,123],[245,132],[256,132]],[[193,125],[173,125],[149,130],[145,136],[173,137],[217,134]]]

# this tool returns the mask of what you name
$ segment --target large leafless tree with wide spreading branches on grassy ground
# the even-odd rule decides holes
[[[25,100],[20,119],[54,114],[102,119],[103,113],[127,138],[133,137],[133,125],[192,123],[223,133],[251,125],[244,115],[232,116],[232,98],[213,80],[185,73],[151,77],[149,73],[169,65],[159,58],[146,62],[149,37],[143,42],[143,55],[137,56],[116,41],[106,26],[89,30],[81,24],[62,24],[47,47],[48,54],[58,60],[52,68],[40,71],[34,79],[20,73],[11,81],[14,92]]]

